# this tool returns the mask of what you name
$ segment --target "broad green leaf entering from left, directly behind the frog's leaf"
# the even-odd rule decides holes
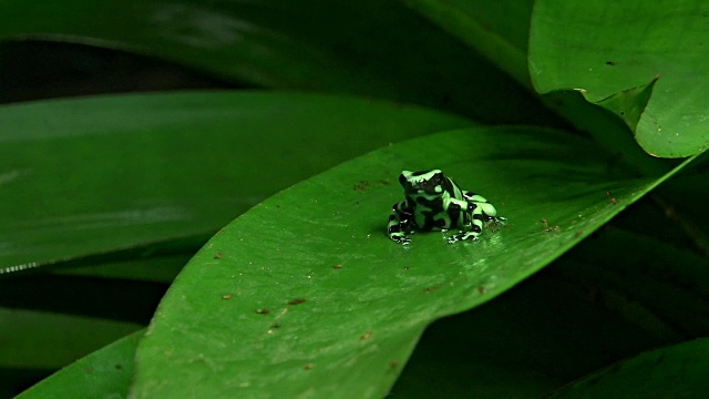
[[[207,92],[3,106],[0,121],[0,275],[204,243],[342,160],[472,124],[364,99]]]

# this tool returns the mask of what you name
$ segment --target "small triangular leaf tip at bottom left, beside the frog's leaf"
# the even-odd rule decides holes
[[[133,376],[133,356],[144,330],[96,350],[22,392],[17,399],[125,398]]]

